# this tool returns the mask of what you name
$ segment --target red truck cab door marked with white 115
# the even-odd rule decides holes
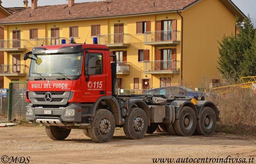
[[[82,101],[96,102],[100,96],[106,96],[106,70],[105,65],[105,51],[88,50],[90,55],[96,57],[95,75],[90,75],[88,81],[87,65],[88,53],[84,51],[83,67],[82,67]]]

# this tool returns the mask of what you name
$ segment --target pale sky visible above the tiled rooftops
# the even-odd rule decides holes
[[[75,0],[75,3],[88,2],[96,0]],[[2,6],[4,7],[23,7],[23,0],[2,0]],[[238,8],[247,16],[249,13],[250,16],[256,20],[256,0],[232,0]],[[29,6],[31,0],[29,0]],[[57,5],[68,3],[67,0],[38,0],[38,6],[45,5]]]

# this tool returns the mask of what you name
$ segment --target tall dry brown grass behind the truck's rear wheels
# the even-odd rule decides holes
[[[221,122],[216,131],[235,134],[256,133],[256,93],[247,89],[232,88],[225,96],[210,96],[207,100],[214,102],[220,110]]]

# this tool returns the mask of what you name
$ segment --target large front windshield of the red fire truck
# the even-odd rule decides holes
[[[81,71],[82,55],[79,54],[37,54],[42,62],[38,65],[35,60],[31,60],[29,76],[77,76]],[[32,58],[36,59],[35,55]],[[38,74],[36,74],[38,73]],[[56,74],[58,73],[58,74]]]

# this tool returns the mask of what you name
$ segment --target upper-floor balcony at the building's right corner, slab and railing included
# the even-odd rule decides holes
[[[180,31],[144,32],[144,45],[176,45],[180,42]]]

